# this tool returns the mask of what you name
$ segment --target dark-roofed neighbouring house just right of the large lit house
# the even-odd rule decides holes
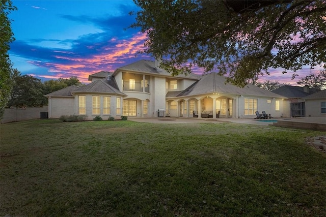
[[[284,102],[284,116],[288,117],[306,117],[306,105],[304,97],[314,94],[318,90],[306,86],[285,85],[272,90],[275,94],[286,97]],[[315,115],[312,115],[315,116]]]

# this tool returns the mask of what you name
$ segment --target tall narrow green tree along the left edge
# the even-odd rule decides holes
[[[9,0],[0,1],[0,119],[3,118],[12,89],[12,64],[8,50],[14,41],[8,14],[17,10]]]

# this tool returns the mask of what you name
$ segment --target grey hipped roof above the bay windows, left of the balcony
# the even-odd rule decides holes
[[[107,78],[103,78],[101,80],[94,81],[89,83],[85,86],[79,87],[78,89],[72,91],[72,93],[78,92],[105,92],[111,94],[119,94],[125,95],[117,88],[117,83],[115,82],[114,78],[108,81]]]

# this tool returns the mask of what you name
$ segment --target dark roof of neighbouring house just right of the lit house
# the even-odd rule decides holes
[[[315,88],[309,88],[309,93],[308,93],[304,91],[304,87],[302,86],[291,86],[291,85],[284,85],[275,90],[272,90],[272,92],[275,92],[275,94],[279,94],[287,98],[303,98],[309,96],[310,94],[313,94],[316,91],[317,90]]]

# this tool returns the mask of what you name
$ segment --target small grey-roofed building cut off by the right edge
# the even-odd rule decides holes
[[[304,97],[306,117],[326,118],[326,89]]]

